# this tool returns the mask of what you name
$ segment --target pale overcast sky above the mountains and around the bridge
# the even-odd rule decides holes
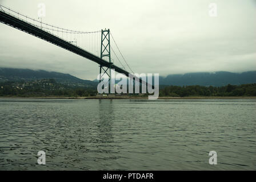
[[[71,30],[110,28],[136,73],[256,70],[255,0],[0,0],[0,4]],[[217,16],[209,15],[209,4]],[[98,64],[0,24],[0,67],[45,69],[97,78]]]

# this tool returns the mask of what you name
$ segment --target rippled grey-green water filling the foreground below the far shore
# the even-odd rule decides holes
[[[255,109],[255,99],[0,99],[0,169],[255,170]]]

